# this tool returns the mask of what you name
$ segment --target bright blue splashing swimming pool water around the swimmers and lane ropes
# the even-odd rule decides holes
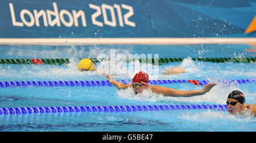
[[[225,104],[229,92],[241,90],[246,103],[254,103],[255,82],[225,86],[220,79],[255,79],[255,63],[214,63],[193,61],[193,57],[255,57],[249,45],[92,45],[92,46],[1,46],[0,58],[69,58],[68,65],[0,65],[0,82],[6,81],[106,81],[97,72],[79,72],[78,58],[100,53],[159,54],[159,58],[184,58],[182,62],[159,65],[159,74],[168,66],[182,66],[177,75],[150,75],[150,79],[208,79],[218,83],[210,92],[191,98],[172,98],[145,91],[115,87],[9,87],[0,88],[0,107],[126,106],[170,104]],[[129,63],[127,65],[133,65]],[[98,66],[100,66],[99,64]],[[126,65],[124,62],[122,65]],[[147,69],[152,73],[154,69]],[[135,71],[137,72],[137,71]],[[135,74],[134,72],[134,74]],[[115,80],[132,79],[133,74],[117,74]],[[179,90],[201,89],[191,83],[160,85]],[[1,131],[256,131],[252,116],[233,116],[225,111],[175,110],[148,112],[69,112],[0,115]]]

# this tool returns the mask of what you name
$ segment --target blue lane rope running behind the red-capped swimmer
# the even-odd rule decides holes
[[[207,85],[208,80],[194,80],[199,82],[200,85]],[[256,79],[236,79],[236,80],[219,80],[219,82],[225,83],[226,86],[238,85],[247,82],[255,82]],[[128,84],[130,80],[121,80],[119,82]],[[150,80],[150,85],[162,85],[170,83],[189,83],[187,80]],[[84,86],[84,87],[96,87],[96,86],[113,86],[109,81],[10,81],[0,82],[1,88],[7,87],[59,87],[59,86]]]

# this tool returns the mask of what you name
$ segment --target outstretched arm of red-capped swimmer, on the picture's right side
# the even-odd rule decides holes
[[[191,97],[196,95],[204,95],[206,92],[210,91],[213,86],[216,86],[216,83],[209,83],[208,85],[204,86],[202,90],[187,90],[187,91],[180,91],[176,89],[171,89],[168,87],[161,87],[161,86],[152,86],[152,92],[157,94],[163,94],[164,96],[172,96],[172,97]]]

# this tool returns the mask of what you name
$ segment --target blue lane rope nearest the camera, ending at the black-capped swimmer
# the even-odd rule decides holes
[[[60,112],[138,112],[171,110],[219,110],[228,111],[224,105],[147,105],[147,106],[67,106],[67,107],[18,107],[0,108],[0,115]]]

